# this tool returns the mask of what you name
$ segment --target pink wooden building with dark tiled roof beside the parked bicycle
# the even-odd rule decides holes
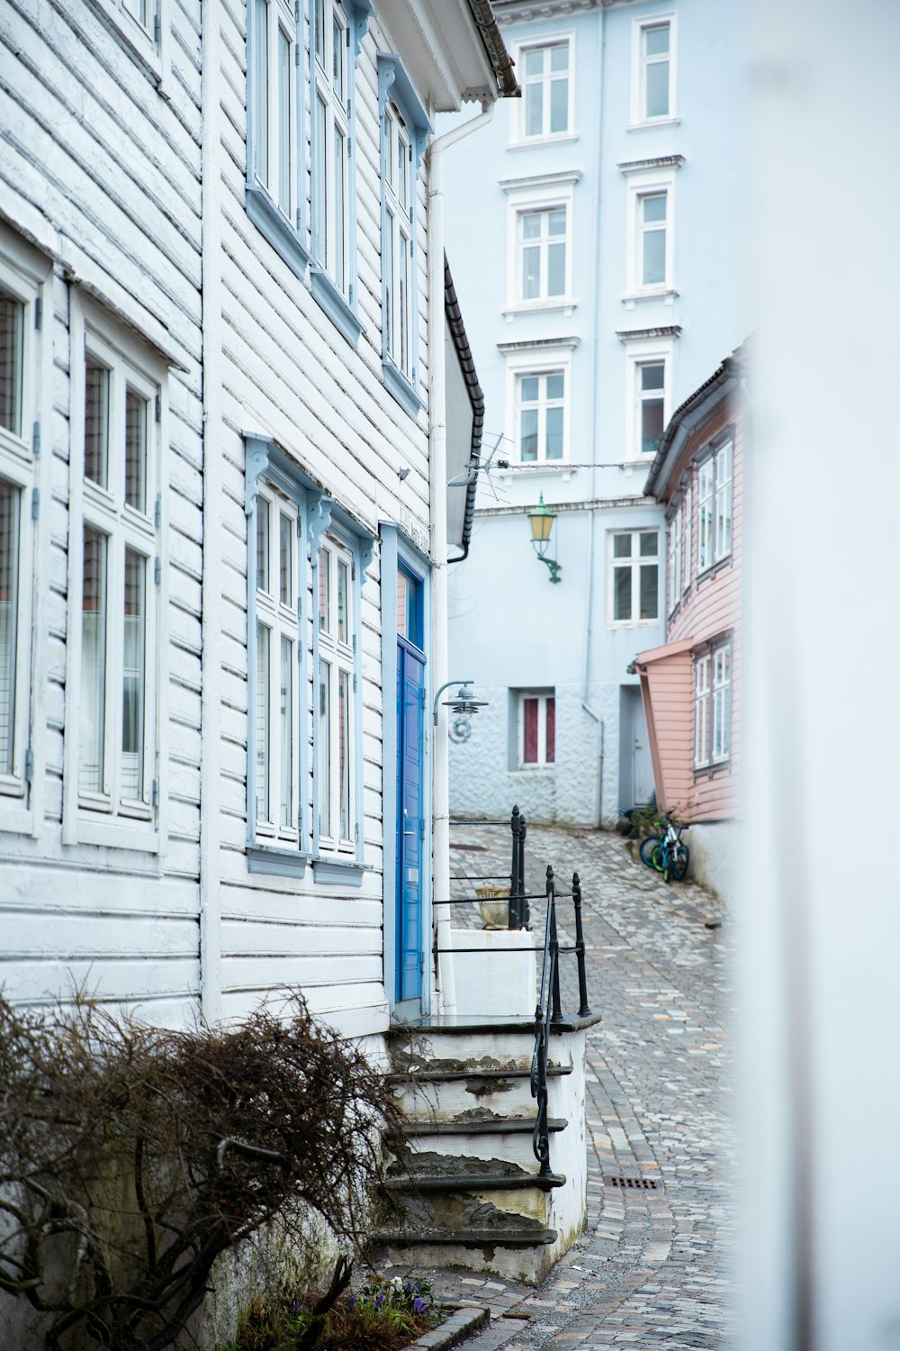
[[[657,801],[691,823],[738,815],[742,374],[741,349],[681,404],[644,489],[667,508],[667,640],[636,669]]]

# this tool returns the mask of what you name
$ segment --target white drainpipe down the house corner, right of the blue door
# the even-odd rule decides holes
[[[428,149],[428,320],[429,409],[428,432],[432,504],[432,689],[449,680],[447,669],[447,367],[444,359],[444,151],[484,127],[494,104],[484,101],[476,118],[432,141]],[[441,717],[434,732],[434,900],[449,898],[449,742]],[[437,908],[437,986],[440,1012],[456,1012],[456,982],[449,954],[449,907]]]

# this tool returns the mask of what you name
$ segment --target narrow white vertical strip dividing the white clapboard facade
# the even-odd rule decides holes
[[[219,172],[219,3],[202,0],[202,655],[200,694],[200,1006],[204,1023],[221,1017],[221,177]]]

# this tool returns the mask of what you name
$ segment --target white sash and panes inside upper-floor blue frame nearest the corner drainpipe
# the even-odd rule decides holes
[[[413,147],[399,111],[387,104],[382,122],[385,138],[385,353],[412,380],[413,376]]]

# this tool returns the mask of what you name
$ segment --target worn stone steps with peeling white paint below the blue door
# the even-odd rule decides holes
[[[534,1020],[434,1017],[390,1034],[391,1085],[406,1115],[389,1166],[394,1205],[376,1242],[409,1266],[461,1266],[538,1282],[586,1217],[584,1036],[553,1027],[551,1171],[532,1136]]]

